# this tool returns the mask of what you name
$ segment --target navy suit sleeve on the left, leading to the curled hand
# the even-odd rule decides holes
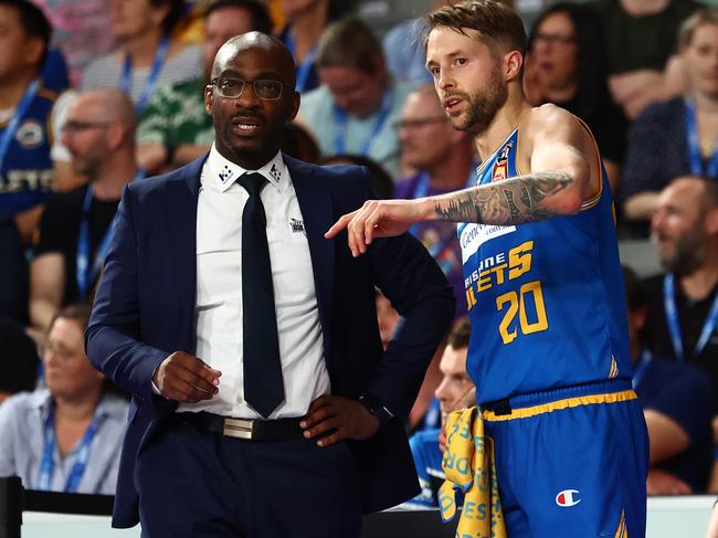
[[[140,341],[137,264],[133,190],[127,186],[85,333],[85,347],[97,370],[119,387],[149,400],[152,373],[168,354]]]

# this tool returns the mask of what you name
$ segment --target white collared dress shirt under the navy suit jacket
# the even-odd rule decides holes
[[[267,219],[266,234],[284,379],[285,400],[270,419],[300,416],[315,398],[329,393],[309,244],[282,154],[277,152],[265,166],[251,171],[267,179],[261,198]],[[247,170],[222,157],[212,146],[200,176],[197,208],[197,356],[220,370],[222,376],[220,391],[214,398],[182,403],[178,411],[262,418],[244,401],[242,212],[249,194],[236,179],[245,172]]]

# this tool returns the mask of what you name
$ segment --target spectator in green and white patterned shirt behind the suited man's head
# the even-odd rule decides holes
[[[214,140],[212,117],[204,109],[204,86],[212,62],[226,40],[258,30],[270,33],[272,21],[258,1],[215,0],[204,10],[203,74],[159,88],[139,118],[137,161],[148,173],[182,166],[209,151]]]

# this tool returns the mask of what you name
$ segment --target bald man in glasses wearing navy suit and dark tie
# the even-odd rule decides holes
[[[408,234],[358,259],[324,238],[369,175],[282,155],[294,85],[281,42],[230,40],[205,89],[209,155],[123,194],[86,334],[133,393],[116,527],[358,537],[362,513],[419,493],[402,422],[452,289]],[[404,318],[386,351],[374,286]]]

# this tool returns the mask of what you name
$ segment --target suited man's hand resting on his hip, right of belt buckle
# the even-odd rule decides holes
[[[369,439],[379,430],[379,419],[361,403],[340,395],[320,395],[309,405],[299,424],[306,439],[323,436],[317,444],[329,446],[346,439]]]

